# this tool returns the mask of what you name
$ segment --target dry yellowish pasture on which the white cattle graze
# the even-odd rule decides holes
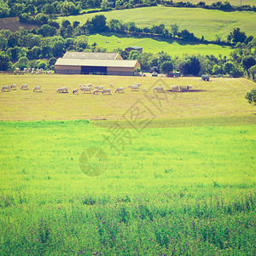
[[[91,83],[109,88],[110,96],[92,95],[72,91],[79,84]],[[143,91],[131,91],[131,84],[141,83]],[[211,79],[204,82],[201,78],[152,78],[152,77],[115,77],[84,75],[1,75],[0,84],[28,84],[30,90],[12,90],[0,93],[2,106],[0,120],[42,120],[42,119],[124,119],[124,114],[136,104],[144,104],[150,109],[140,118],[186,118],[224,115],[244,115],[255,113],[255,108],[244,98],[247,90],[255,86],[247,79]],[[162,85],[169,90],[172,85],[192,85],[190,92],[153,92],[153,86]],[[34,86],[41,85],[42,93],[32,92]],[[58,94],[57,88],[67,86],[69,93]],[[114,90],[126,87],[124,94]]]

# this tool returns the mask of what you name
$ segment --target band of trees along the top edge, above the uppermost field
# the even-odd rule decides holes
[[[155,6],[163,4],[165,6],[183,7],[183,8],[203,8],[218,9],[223,11],[256,11],[256,6],[241,5],[232,6],[228,1],[218,1],[207,4],[203,1],[200,3],[191,2],[174,2],[172,0],[8,0],[0,3],[0,18],[16,17],[22,14],[38,15],[44,13],[47,15],[79,15],[86,9],[90,12],[112,9],[131,9],[146,6]]]

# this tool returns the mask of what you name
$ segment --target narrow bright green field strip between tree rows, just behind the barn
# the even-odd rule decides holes
[[[106,43],[108,41],[109,43]],[[117,44],[117,42],[120,42]],[[167,52],[169,55],[181,56],[184,53],[195,55],[226,55],[229,56],[231,48],[228,46],[221,46],[217,44],[185,44],[183,42],[177,42],[172,40],[161,40],[156,38],[139,38],[129,37],[125,38],[124,35],[102,33],[96,35],[90,35],[88,37],[89,44],[98,44],[112,52],[113,49],[130,47],[131,45],[138,45],[143,47],[143,52],[158,53],[161,50]]]

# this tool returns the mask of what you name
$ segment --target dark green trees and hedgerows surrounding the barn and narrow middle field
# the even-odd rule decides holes
[[[144,35],[151,34],[156,37],[170,37],[171,34],[173,38],[184,37],[184,32],[179,32],[177,24],[172,24],[170,31],[163,24],[139,28],[134,22],[124,23],[114,19],[107,22],[104,15],[96,15],[82,25],[79,21],[71,23],[69,20],[62,20],[59,24],[49,20],[44,14],[38,14],[34,19],[41,20],[45,24],[32,30],[20,28],[17,32],[0,31],[1,70],[38,66],[54,69],[56,58],[64,55],[67,50],[106,52],[107,49],[96,43],[88,44],[87,36],[95,32],[123,32],[128,35],[142,32],[145,33]],[[239,28],[235,28],[227,39],[230,44],[236,45],[229,57],[222,55],[173,57],[163,52],[154,55],[140,54],[137,51],[128,53],[124,49],[115,49],[115,51],[119,52],[124,59],[137,59],[144,72],[148,72],[151,67],[159,67],[161,73],[178,70],[183,75],[195,76],[202,73],[228,74],[232,77],[240,77],[246,73],[254,76],[256,38],[247,37]]]

